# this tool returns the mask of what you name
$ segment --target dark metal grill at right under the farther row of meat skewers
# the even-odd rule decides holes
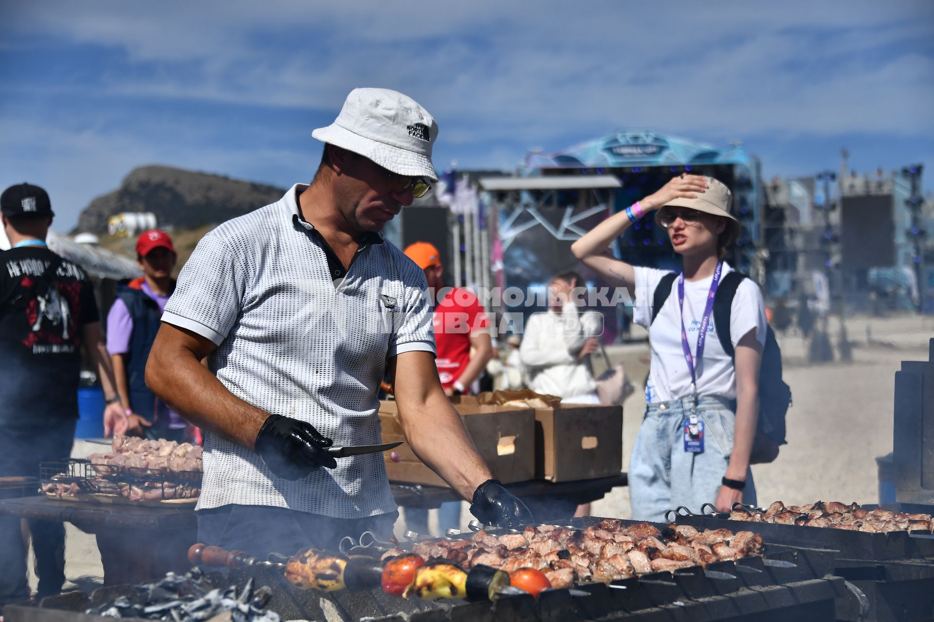
[[[875,505],[865,505],[872,509]],[[931,514],[929,505],[884,506],[896,512]],[[678,508],[675,521],[698,529],[753,530],[763,541],[800,550],[833,553],[832,573],[848,582],[837,619],[921,622],[934,619],[934,535],[870,533],[729,520],[729,514],[694,515]]]

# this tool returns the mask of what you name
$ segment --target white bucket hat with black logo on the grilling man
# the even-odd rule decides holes
[[[411,97],[389,89],[354,89],[341,113],[311,135],[373,160],[384,169],[438,181],[432,145],[438,124]]]

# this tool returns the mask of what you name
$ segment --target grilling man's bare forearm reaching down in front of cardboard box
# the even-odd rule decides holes
[[[418,459],[470,501],[492,475],[445,394],[438,391],[422,405],[397,406],[405,439]]]

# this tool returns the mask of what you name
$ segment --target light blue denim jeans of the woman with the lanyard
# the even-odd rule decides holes
[[[691,414],[704,424],[702,453],[685,451],[684,422]],[[679,505],[700,512],[701,505],[713,504],[727,474],[735,420],[732,404],[721,397],[647,404],[630,459],[632,518],[663,521],[665,512]],[[756,503],[751,470],[743,503]]]

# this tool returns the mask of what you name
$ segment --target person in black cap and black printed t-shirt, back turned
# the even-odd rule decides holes
[[[84,270],[46,245],[54,213],[40,187],[0,195],[12,248],[0,253],[0,477],[39,475],[39,463],[71,454],[78,419],[80,348],[96,364],[107,406],[106,434],[122,433],[110,357]],[[64,525],[30,519],[39,598],[64,584]],[[19,517],[0,517],[0,606],[29,597]]]

